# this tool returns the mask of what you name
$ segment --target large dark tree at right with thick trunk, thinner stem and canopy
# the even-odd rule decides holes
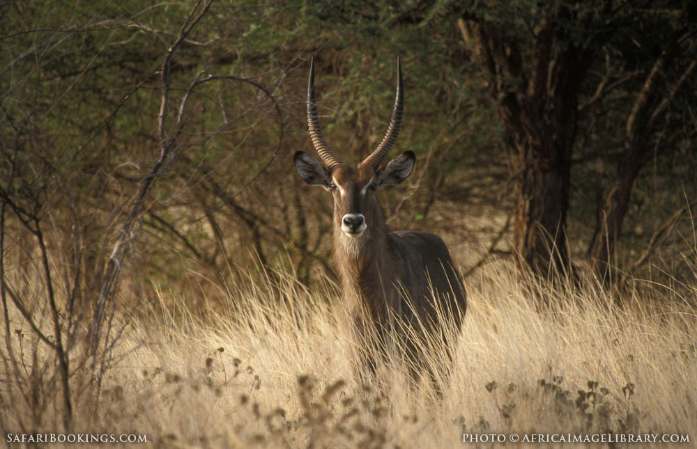
[[[638,173],[694,135],[694,123],[685,122],[694,95],[686,88],[697,56],[694,13],[688,3],[655,1],[479,2],[462,10],[461,35],[513,156],[519,267],[539,274],[571,268],[572,164],[574,155],[595,153],[618,161],[598,198],[588,249],[593,269],[608,280]],[[599,120],[610,125],[609,152],[598,153],[592,139],[579,141]]]

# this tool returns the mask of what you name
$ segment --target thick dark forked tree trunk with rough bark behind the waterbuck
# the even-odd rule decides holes
[[[556,15],[535,34],[532,53],[500,23],[466,15],[458,24],[506,131],[516,181],[516,265],[544,278],[571,268],[567,249],[571,155],[579,84],[588,54],[569,44]]]

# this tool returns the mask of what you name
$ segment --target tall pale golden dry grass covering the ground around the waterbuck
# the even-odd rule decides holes
[[[148,318],[128,326],[98,402],[92,391],[74,393],[75,429],[148,434],[154,446],[183,448],[447,448],[464,432],[697,438],[694,289],[681,295],[654,285],[618,300],[592,283],[537,287],[538,299],[554,304],[541,309],[510,269],[487,270],[468,280],[468,313],[442,402],[426,383],[409,388],[398,365],[383,370],[385,388],[360,388],[327,305],[339,301],[335,290],[308,292],[286,278],[292,302],[272,299],[265,285],[238,289],[227,313],[206,317],[185,306],[194,293],[161,292],[163,304],[176,306],[141,313]],[[10,329],[31,333],[19,317]],[[30,343],[25,338],[26,354]],[[24,363],[43,363],[44,353]],[[43,418],[9,402],[21,397],[12,369],[5,363],[1,376],[3,430],[60,432],[51,413],[61,406],[49,386],[42,394],[52,411]]]

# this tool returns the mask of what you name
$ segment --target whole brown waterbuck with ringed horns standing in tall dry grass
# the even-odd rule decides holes
[[[313,59],[307,85],[307,124],[326,168],[304,151],[296,152],[293,162],[307,184],[324,187],[334,197],[334,256],[342,281],[342,304],[364,368],[375,372],[376,354],[396,352],[414,380],[425,369],[435,381],[434,370],[444,368],[441,372],[447,374],[448,368],[426,363],[424,350],[439,349],[450,359],[454,346],[450,336],[459,333],[466,297],[441,237],[390,232],[376,198],[378,190],[404,181],[414,167],[415,155],[406,151],[379,168],[395,145],[403,113],[404,88],[397,58],[397,98],[387,134],[358,166],[342,163],[329,149],[319,124]]]

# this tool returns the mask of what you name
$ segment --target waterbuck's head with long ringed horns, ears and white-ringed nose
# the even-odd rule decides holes
[[[362,239],[370,235],[372,230],[384,226],[382,212],[375,198],[376,191],[386,185],[404,181],[414,167],[414,152],[406,151],[384,168],[379,168],[395,145],[403,114],[404,89],[401,63],[397,58],[397,97],[392,110],[392,120],[383,141],[358,166],[342,163],[329,149],[322,135],[314,95],[314,60],[310,63],[307,82],[307,126],[321,162],[304,151],[297,151],[293,155],[293,162],[307,184],[319,185],[332,194],[335,228],[340,229],[341,234],[350,239]]]

